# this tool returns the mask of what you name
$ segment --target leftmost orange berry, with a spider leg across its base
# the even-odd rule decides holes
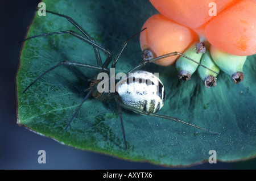
[[[140,41],[141,48],[149,49],[154,57],[171,52],[182,53],[194,40],[199,41],[195,32],[176,23],[162,14],[151,16],[143,25]],[[169,66],[174,64],[179,56],[171,56],[156,61],[156,64]]]

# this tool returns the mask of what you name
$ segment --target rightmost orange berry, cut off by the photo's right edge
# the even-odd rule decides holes
[[[237,56],[256,53],[256,1],[241,0],[205,27],[210,44]]]

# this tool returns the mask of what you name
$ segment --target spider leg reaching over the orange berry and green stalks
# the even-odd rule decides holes
[[[188,56],[185,56],[184,54],[179,53],[179,52],[172,52],[172,53],[164,54],[164,55],[156,57],[156,58],[152,58],[150,60],[146,60],[146,61],[142,62],[141,64],[135,66],[130,71],[128,71],[128,73],[130,73],[131,71],[134,71],[134,70],[138,70],[138,69],[142,68],[143,66],[145,66],[146,64],[149,64],[151,62],[154,62],[154,61],[160,60],[162,58],[166,58],[166,57],[176,56],[176,55],[183,56],[183,57],[187,58],[188,60],[191,60],[191,61],[195,62],[196,64],[203,66],[203,68],[208,69],[208,70],[212,71],[213,73],[215,73],[216,75],[218,75],[218,73],[216,71],[213,71],[212,69],[207,68],[207,66],[204,66],[204,65],[200,64],[199,62],[196,62],[192,58],[189,58]]]

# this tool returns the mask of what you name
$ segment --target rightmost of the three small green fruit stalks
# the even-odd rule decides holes
[[[235,83],[243,81],[245,76],[242,72],[243,64],[245,64],[246,56],[236,56],[223,52],[222,50],[210,46],[210,54],[213,61],[220,67],[226,74],[231,75]]]

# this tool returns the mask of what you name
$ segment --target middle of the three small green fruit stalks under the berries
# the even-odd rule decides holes
[[[209,50],[207,50],[201,57],[200,64],[215,71],[216,73],[220,72],[220,68],[218,68],[218,66],[214,63],[212,56],[210,56]],[[217,81],[216,77],[218,75],[213,71],[210,71],[209,69],[205,69],[203,66],[199,66],[199,68],[197,69],[197,73],[199,74],[199,77],[203,79],[204,85],[207,88],[216,86],[216,81]]]

